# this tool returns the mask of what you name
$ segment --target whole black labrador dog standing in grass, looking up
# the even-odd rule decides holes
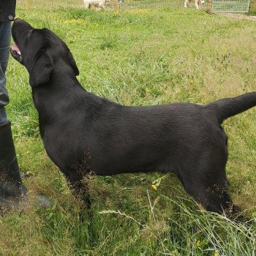
[[[208,105],[130,107],[83,89],[67,45],[48,29],[15,19],[12,56],[29,71],[48,156],[75,188],[93,171],[176,173],[208,211],[234,211],[225,173],[222,121],[256,105],[256,92]]]

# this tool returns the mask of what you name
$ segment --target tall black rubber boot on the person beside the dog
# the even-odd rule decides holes
[[[20,178],[10,122],[0,124],[0,208],[20,206],[27,189]]]

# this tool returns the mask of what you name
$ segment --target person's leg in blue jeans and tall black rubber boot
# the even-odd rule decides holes
[[[4,109],[9,103],[5,72],[10,54],[11,26],[10,21],[0,23],[0,206],[4,207],[19,203],[20,196],[26,194],[20,178],[11,124]]]

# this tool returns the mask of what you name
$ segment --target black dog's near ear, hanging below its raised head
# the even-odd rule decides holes
[[[50,72],[53,70],[53,59],[45,50],[37,53],[33,67],[29,71],[29,83],[31,86],[39,86],[47,83],[50,78]]]

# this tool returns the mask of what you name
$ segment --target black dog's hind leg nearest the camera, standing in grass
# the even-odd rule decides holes
[[[201,148],[203,150],[203,148]],[[178,173],[184,189],[189,195],[201,203],[207,211],[221,214],[223,211],[232,211],[233,203],[228,194],[225,165],[227,151],[205,148],[203,152],[195,154],[194,159],[188,159]]]

